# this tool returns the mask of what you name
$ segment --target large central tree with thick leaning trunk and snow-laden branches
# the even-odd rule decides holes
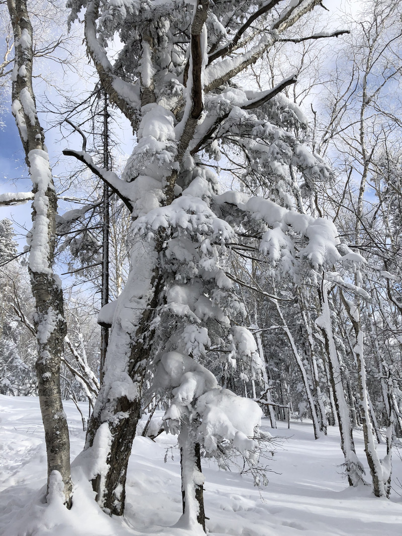
[[[297,190],[289,166],[307,188],[330,177],[303,145],[300,110],[280,94],[295,77],[253,91],[240,87],[237,75],[286,40],[291,27],[306,40],[342,32],[303,34],[303,18],[320,9],[318,0],[249,2],[241,10],[207,0],[69,5],[71,21],[84,9],[88,53],[137,137],[122,178],[85,152],[64,152],[85,162],[133,216],[128,280],[101,312],[112,329],[86,442],[94,452],[108,445],[90,477],[102,507],[121,515],[142,384],[157,355],[176,351],[218,362],[223,371],[237,363],[244,377],[259,374],[257,345],[242,319],[243,282],[229,257],[257,250],[287,273],[296,271],[296,257],[316,269],[341,259],[332,224],[298,213],[289,197]],[[107,48],[116,34],[122,48],[112,65]],[[247,191],[219,193],[211,163],[222,152],[247,162]],[[257,178],[275,185],[280,204],[253,195]]]

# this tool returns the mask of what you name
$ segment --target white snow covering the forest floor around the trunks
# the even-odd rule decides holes
[[[65,403],[72,459],[84,433]],[[267,421],[264,422],[269,429]],[[91,486],[73,467],[73,508],[44,502],[46,451],[37,398],[0,396],[1,536],[193,536],[174,526],[181,515],[180,455],[175,438],[137,437],[128,473],[126,513],[110,518],[93,501]],[[391,500],[369,487],[349,488],[341,477],[339,431],[314,440],[311,422],[278,423],[269,485],[259,492],[250,475],[204,462],[205,511],[211,536],[400,536],[402,461],[394,454]],[[363,460],[362,433],[355,431]],[[383,445],[382,445],[383,451]],[[164,461],[166,455],[166,463]],[[73,464],[74,466],[74,464]]]

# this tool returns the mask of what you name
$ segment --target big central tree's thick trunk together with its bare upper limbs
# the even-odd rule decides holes
[[[188,115],[183,117],[183,129],[177,144],[175,163],[178,162],[179,166],[203,111],[203,55],[200,35],[207,17],[207,8],[208,2],[199,0],[191,23],[192,85],[191,96],[189,95],[191,106],[186,108]],[[133,109],[128,106],[124,98],[121,98],[113,84],[115,75],[111,72],[110,63],[99,61],[104,51],[99,50],[98,41],[96,38],[93,39],[96,35],[98,16],[99,2],[88,2],[85,13],[88,53],[94,61],[101,84],[109,98],[130,119],[131,124],[136,126],[137,118],[133,118]],[[146,39],[143,40],[143,46],[146,48],[145,42]],[[152,50],[149,51],[152,56]],[[144,108],[150,99],[153,100],[151,97],[152,77],[151,80],[144,80],[142,84],[141,98]],[[137,139],[140,142],[140,137]],[[153,157],[150,158],[149,163],[152,168]],[[143,169],[146,167],[144,163]],[[168,168],[168,172],[169,169],[170,174],[165,175],[164,170],[158,172],[161,187],[163,183],[165,205],[170,205],[175,198],[175,184],[178,176],[176,166],[172,165]],[[161,236],[162,233],[160,233],[157,239],[147,241],[143,236],[135,236],[134,227],[135,223],[132,229],[130,273],[117,301],[103,368],[103,381],[88,426],[85,444],[85,449],[90,449],[105,441],[108,442],[105,459],[102,460],[103,468],[101,471],[94,468],[92,485],[96,491],[96,500],[102,508],[115,515],[123,515],[124,512],[127,466],[139,419],[142,384],[153,340],[154,328],[151,322],[163,288],[163,273],[159,271],[159,255],[166,248],[166,240],[169,239],[169,236]],[[99,467],[99,464],[96,464],[96,467]]]

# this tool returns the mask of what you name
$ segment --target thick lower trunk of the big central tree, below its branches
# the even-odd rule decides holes
[[[152,345],[150,323],[162,276],[157,268],[163,241],[139,243],[117,304],[103,382],[88,425],[85,449],[108,441],[103,471],[92,475],[96,500],[105,511],[123,515],[125,480],[141,409],[141,390]],[[130,314],[131,312],[131,314]]]

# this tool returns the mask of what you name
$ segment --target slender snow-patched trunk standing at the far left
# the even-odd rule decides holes
[[[70,442],[60,389],[60,362],[67,330],[61,281],[53,272],[57,197],[32,88],[32,26],[26,1],[8,0],[8,8],[16,43],[12,113],[34,193],[28,269],[35,297],[34,326],[38,348],[35,367],[46,441],[47,487],[49,491],[50,481],[61,475],[64,503],[70,508]]]

